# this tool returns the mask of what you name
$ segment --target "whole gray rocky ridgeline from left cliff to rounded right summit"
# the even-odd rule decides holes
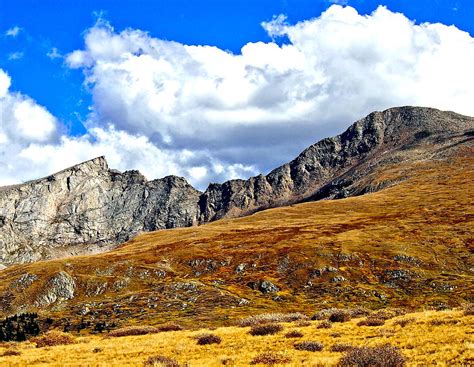
[[[105,251],[139,232],[192,226],[306,200],[379,190],[382,165],[441,156],[472,140],[474,119],[435,109],[374,112],[290,163],[248,180],[211,184],[148,181],[109,169],[99,157],[43,179],[0,188],[0,267]]]

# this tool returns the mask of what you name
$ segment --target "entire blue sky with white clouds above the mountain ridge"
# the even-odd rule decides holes
[[[0,185],[105,155],[200,189],[374,110],[474,115],[471,0],[0,0]]]

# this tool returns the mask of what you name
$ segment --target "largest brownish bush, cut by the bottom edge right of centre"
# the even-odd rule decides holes
[[[339,361],[340,367],[402,367],[406,363],[398,348],[387,344],[379,347],[352,348]]]

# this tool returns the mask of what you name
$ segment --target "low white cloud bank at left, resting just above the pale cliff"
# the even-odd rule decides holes
[[[100,155],[114,168],[139,169],[149,177],[181,175],[199,187],[209,177],[223,181],[255,172],[254,167],[241,164],[224,165],[206,151],[160,149],[143,135],[111,125],[92,127],[79,137],[67,136],[50,112],[11,92],[10,85],[10,77],[0,69],[0,185],[38,178]]]

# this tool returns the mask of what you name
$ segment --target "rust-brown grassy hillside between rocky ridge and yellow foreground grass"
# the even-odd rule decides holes
[[[472,136],[430,159],[393,160],[378,192],[144,233],[97,255],[0,272],[0,311],[38,310],[63,327],[168,320],[196,327],[243,315],[353,304],[458,306],[474,294]],[[413,154],[412,154],[413,156]]]

